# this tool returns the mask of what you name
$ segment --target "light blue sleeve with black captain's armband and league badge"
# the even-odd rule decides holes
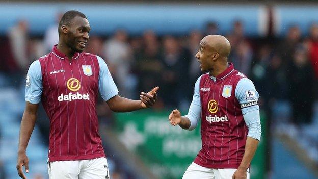
[[[260,140],[259,94],[253,82],[248,78],[241,79],[237,83],[235,97],[239,100],[244,121],[249,130],[247,136]]]

